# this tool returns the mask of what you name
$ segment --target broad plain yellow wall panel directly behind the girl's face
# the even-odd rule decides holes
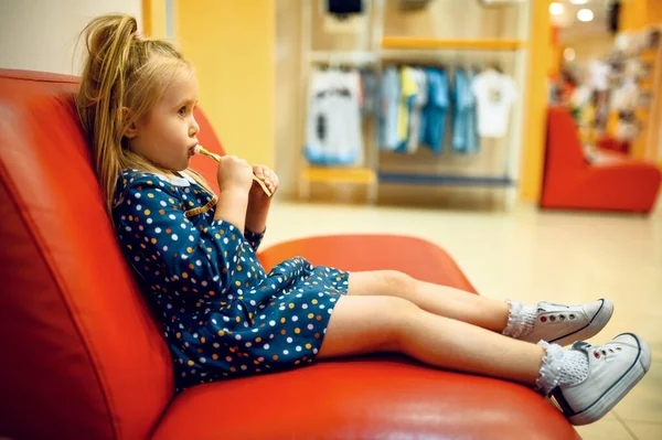
[[[194,65],[200,106],[229,154],[274,167],[271,0],[181,0],[177,40]]]

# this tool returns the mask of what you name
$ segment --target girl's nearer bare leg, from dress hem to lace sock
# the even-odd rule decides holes
[[[478,297],[480,298],[480,297]],[[442,311],[460,315],[456,302]],[[472,316],[479,316],[476,312]],[[397,352],[428,365],[534,385],[545,351],[387,296],[342,297],[318,358]]]

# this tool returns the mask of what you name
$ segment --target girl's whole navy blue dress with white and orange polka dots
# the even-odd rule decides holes
[[[265,273],[263,235],[214,221],[216,201],[188,175],[118,179],[116,233],[161,315],[178,391],[312,363],[348,291],[349,272],[300,257]]]

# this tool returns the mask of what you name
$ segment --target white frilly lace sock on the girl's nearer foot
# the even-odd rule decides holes
[[[549,394],[559,385],[575,385],[588,377],[588,357],[579,350],[565,350],[560,345],[538,342],[547,354],[543,357],[541,376],[535,389],[543,395]]]

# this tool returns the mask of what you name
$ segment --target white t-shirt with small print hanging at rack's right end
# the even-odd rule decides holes
[[[478,109],[478,133],[482,138],[503,138],[517,96],[515,83],[510,76],[488,69],[476,76],[471,89]]]

